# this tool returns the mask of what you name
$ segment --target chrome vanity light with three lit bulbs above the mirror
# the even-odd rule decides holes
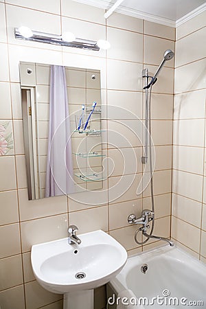
[[[26,29],[25,29],[26,28]],[[99,40],[91,41],[84,38],[76,38],[71,32],[65,32],[61,36],[58,34],[48,34],[45,32],[32,31],[28,27],[19,27],[14,29],[15,38],[25,41],[34,41],[39,43],[47,43],[53,45],[76,47],[81,49],[89,49],[99,51],[100,48],[108,49],[110,44],[108,41]]]

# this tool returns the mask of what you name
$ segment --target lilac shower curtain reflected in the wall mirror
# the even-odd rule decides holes
[[[45,197],[74,192],[65,67],[51,66]]]

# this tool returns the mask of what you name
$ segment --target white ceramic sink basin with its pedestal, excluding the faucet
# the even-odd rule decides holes
[[[64,294],[64,309],[92,309],[93,288],[109,282],[127,260],[124,247],[104,231],[78,237],[81,244],[62,238],[32,246],[36,280],[46,290]]]

